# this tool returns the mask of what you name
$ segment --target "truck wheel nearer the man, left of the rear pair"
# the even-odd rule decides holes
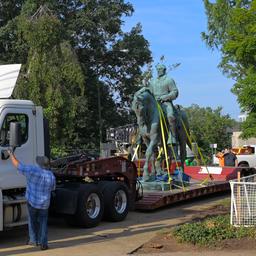
[[[95,227],[101,221],[103,212],[103,196],[98,187],[86,184],[80,188],[74,216],[76,224],[85,228]]]

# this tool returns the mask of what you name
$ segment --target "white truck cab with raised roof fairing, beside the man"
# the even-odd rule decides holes
[[[33,164],[37,155],[44,155],[43,111],[32,101],[10,99],[20,65],[0,66],[0,231],[24,225],[27,220],[26,180],[6,159],[11,122],[21,124],[21,146],[15,149],[17,159]]]

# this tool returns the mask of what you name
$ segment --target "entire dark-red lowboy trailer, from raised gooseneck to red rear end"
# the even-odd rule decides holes
[[[165,189],[160,189],[160,191],[143,189],[143,196],[140,198],[141,191],[139,191],[139,182],[137,180],[138,169],[134,162],[123,157],[89,161],[88,159],[73,159],[65,164],[64,169],[57,168],[54,171],[60,189],[60,196],[56,201],[61,202],[63,209],[64,200],[67,198],[67,194],[63,194],[63,188],[64,190],[69,188],[70,184],[74,184],[74,182],[76,184],[92,182],[99,187],[102,186],[102,182],[104,184],[106,181],[122,182],[129,191],[130,210],[155,210],[177,202],[229,191],[229,180],[235,179],[238,171],[242,175],[246,175],[252,174],[255,169],[246,167],[185,166],[184,173],[190,177],[189,183],[177,186],[175,183],[159,182],[160,186],[165,186]],[[139,174],[141,175],[141,172]],[[150,182],[145,182],[145,184],[147,187],[151,185]],[[152,182],[152,186],[155,184],[157,182]],[[68,194],[70,194],[70,191]],[[68,207],[64,208],[67,209]]]

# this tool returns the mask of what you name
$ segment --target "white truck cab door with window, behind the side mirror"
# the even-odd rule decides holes
[[[23,163],[33,164],[35,159],[35,116],[30,108],[5,108],[0,115],[0,152],[9,147],[9,128],[11,122],[21,123],[21,147],[14,154]],[[0,187],[24,187],[25,179],[17,173],[11,161],[0,159]]]

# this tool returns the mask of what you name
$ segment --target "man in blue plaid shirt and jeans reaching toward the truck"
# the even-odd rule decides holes
[[[13,165],[26,177],[26,199],[28,205],[29,244],[48,249],[47,221],[51,192],[55,189],[55,177],[49,171],[49,159],[37,156],[37,165],[25,165],[19,162],[12,151],[10,154]]]

